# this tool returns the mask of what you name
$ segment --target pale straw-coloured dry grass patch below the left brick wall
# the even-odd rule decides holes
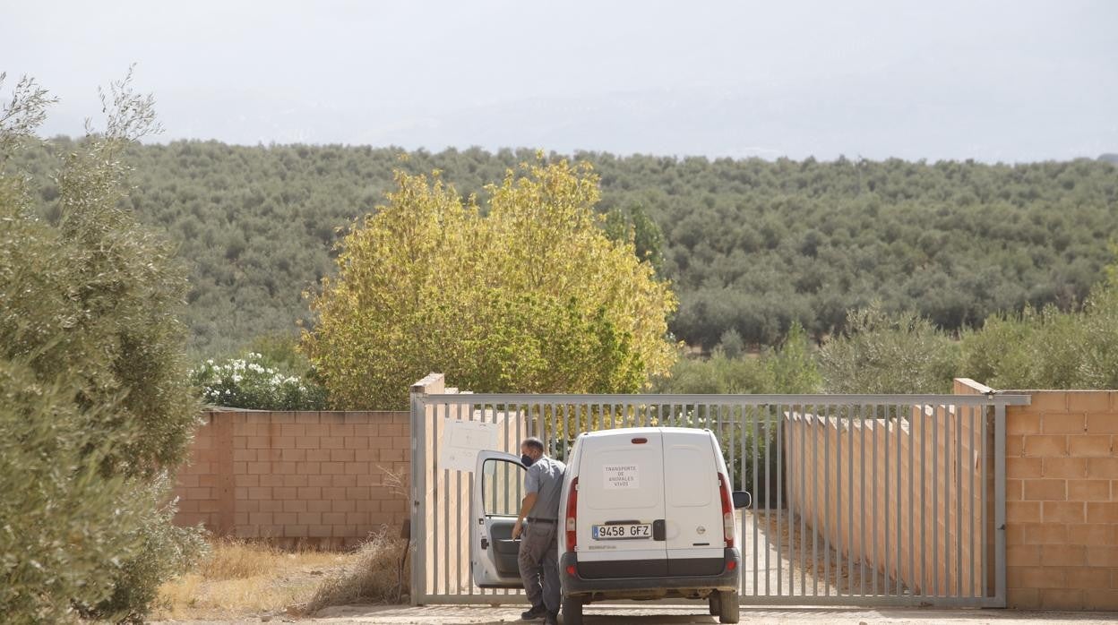
[[[305,604],[323,579],[356,561],[356,553],[220,540],[191,571],[160,588],[154,618],[226,618],[283,612]]]

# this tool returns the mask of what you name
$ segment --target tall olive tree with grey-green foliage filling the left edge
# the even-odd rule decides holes
[[[16,92],[0,148],[27,145],[49,102],[34,82]],[[124,148],[157,126],[127,78],[104,104],[105,131],[59,159],[49,220],[27,195],[42,172],[0,159],[6,622],[61,621],[70,606],[142,618],[197,544],[197,532],[169,528],[172,509],[159,510],[199,408],[174,318],[187,284],[171,246],[120,208]]]

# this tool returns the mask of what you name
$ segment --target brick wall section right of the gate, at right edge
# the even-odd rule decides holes
[[[1118,391],[1024,391],[1006,410],[1016,608],[1118,609]]]

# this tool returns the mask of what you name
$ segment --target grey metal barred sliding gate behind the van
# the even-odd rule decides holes
[[[472,472],[438,465],[448,419],[569,457],[580,432],[708,428],[740,511],[742,605],[1005,606],[1005,407],[1022,395],[413,392],[411,602],[521,602],[470,571]],[[511,484],[509,489],[519,487]],[[506,493],[509,494],[509,493]],[[519,499],[519,491],[510,494]]]

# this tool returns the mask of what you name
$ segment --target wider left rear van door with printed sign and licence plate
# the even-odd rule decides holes
[[[660,430],[588,435],[579,444],[579,575],[667,575]]]

